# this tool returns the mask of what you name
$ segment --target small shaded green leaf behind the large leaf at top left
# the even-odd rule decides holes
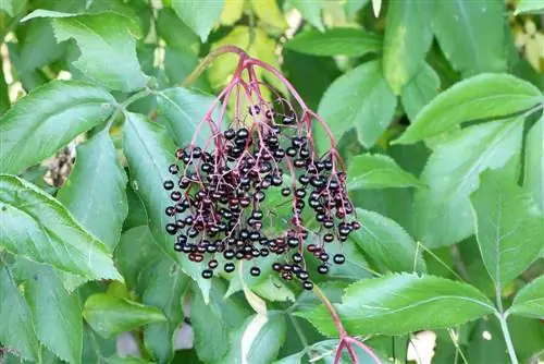
[[[39,69],[58,60],[63,56],[64,46],[54,39],[53,28],[48,20],[34,20],[28,24],[22,41],[18,72]]]

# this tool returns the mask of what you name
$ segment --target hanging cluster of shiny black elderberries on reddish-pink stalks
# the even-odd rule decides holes
[[[255,65],[279,74],[258,60],[243,58],[218,97],[217,104],[223,102],[220,116],[212,119],[212,106],[193,143],[176,151],[177,161],[170,166],[172,178],[164,181],[172,199],[165,209],[172,220],[165,229],[175,235],[175,251],[206,265],[203,278],[211,278],[220,266],[232,272],[236,260],[255,262],[273,254],[277,256],[273,270],[285,280],[298,278],[311,290],[305,254],[318,258],[318,272],[326,274],[331,264],[345,262],[343,254],[330,256],[327,244],[346,241],[360,226],[351,218],[354,207],[335,146],[322,156],[317,154],[311,121],[318,117],[304,105],[296,112],[275,90],[270,92],[273,100],[267,100],[262,87],[268,86],[257,80]],[[243,80],[243,71],[248,72],[249,82]],[[225,123],[232,95],[234,118]],[[203,123],[210,126],[211,136],[196,145]],[[221,128],[224,124],[226,130]],[[289,215],[277,216],[286,204]],[[317,231],[308,228],[312,221]],[[252,265],[250,274],[260,272]]]

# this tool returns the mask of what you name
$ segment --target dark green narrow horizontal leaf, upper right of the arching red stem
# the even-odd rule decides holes
[[[284,44],[287,49],[312,56],[360,57],[382,51],[382,37],[357,28],[310,29]]]

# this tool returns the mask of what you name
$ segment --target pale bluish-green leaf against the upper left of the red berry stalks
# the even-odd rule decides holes
[[[158,95],[157,120],[166,126],[176,144],[185,147],[196,134],[195,144],[206,145],[212,131],[206,121],[201,123],[200,129],[198,125],[215,98],[209,94],[183,87],[165,89]],[[198,133],[196,133],[197,129]]]

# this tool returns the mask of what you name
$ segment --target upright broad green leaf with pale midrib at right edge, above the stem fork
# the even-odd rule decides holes
[[[518,277],[544,247],[544,216],[510,171],[485,171],[470,195],[483,264],[497,287]]]

